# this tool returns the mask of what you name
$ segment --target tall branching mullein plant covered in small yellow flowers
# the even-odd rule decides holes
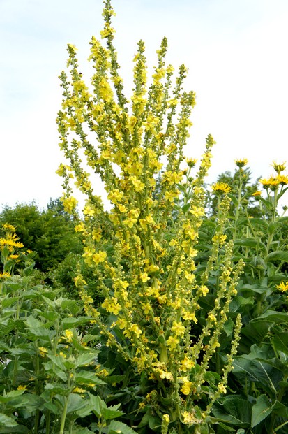
[[[106,336],[107,345],[114,346],[155,384],[159,406],[154,407],[162,419],[162,433],[174,429],[192,432],[206,423],[213,402],[225,393],[240,318],[222,376],[210,386],[206,373],[242,265],[234,270],[232,245],[225,247],[225,200],[225,205],[220,205],[211,258],[198,273],[195,256],[205,215],[203,182],[211,166],[213,138],[207,137],[199,170],[191,178],[190,170],[182,168],[195,105],[195,93],[183,90],[187,70],[180,66],[173,80],[174,68],[165,64],[164,38],[147,87],[144,42],[139,41],[129,103],[113,45],[112,15],[106,0],[100,32],[106,46],[94,37],[91,40],[92,90],[79,73],[73,45],[68,45],[70,77],[64,72],[60,76],[63,103],[57,123],[66,164],[59,166],[58,173],[63,176],[63,205],[73,214],[77,201],[70,182],[74,180],[86,195],[84,219],[76,230],[83,235],[84,261],[91,266],[102,292],[100,309],[87,294],[82,275],[76,277],[75,284],[86,313]],[[112,206],[109,212],[93,190],[91,173],[100,176],[105,185]],[[186,191],[181,208],[179,196],[185,186],[189,186],[189,194]],[[224,254],[219,254],[220,249]],[[220,270],[219,294],[202,331],[192,340],[199,303],[209,292],[209,277],[216,266]],[[112,319],[105,322],[103,312]],[[200,409],[196,402],[204,396],[208,399]]]

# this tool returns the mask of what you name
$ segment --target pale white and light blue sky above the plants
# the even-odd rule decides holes
[[[188,157],[206,136],[217,145],[209,180],[247,158],[257,178],[287,158],[287,0],[114,0],[116,48],[124,85],[142,38],[150,66],[163,36],[168,61],[189,68],[197,94]],[[89,78],[91,36],[102,29],[100,0],[0,0],[0,205],[61,196],[55,174],[63,161],[56,113],[66,44],[78,48]],[[128,92],[130,89],[128,88]]]

